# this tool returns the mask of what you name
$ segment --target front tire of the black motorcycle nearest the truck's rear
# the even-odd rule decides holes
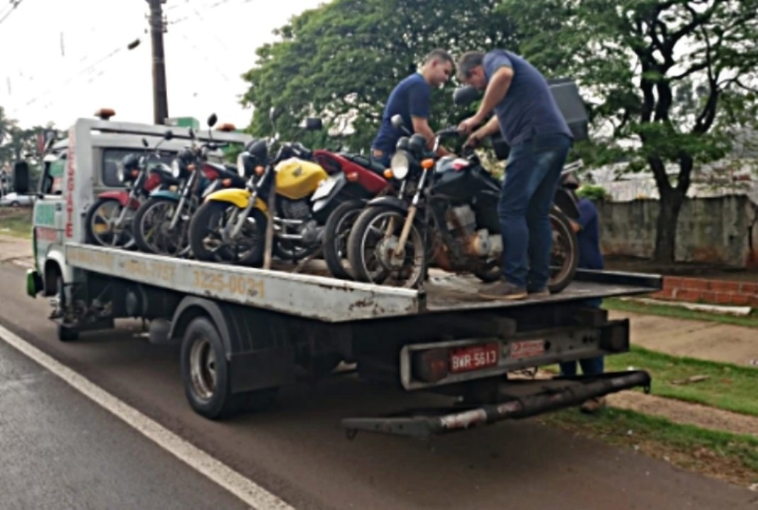
[[[359,217],[356,218],[356,222],[352,225],[352,229],[350,229],[350,235],[347,239],[347,257],[350,262],[350,268],[352,269],[353,277],[355,277],[355,279],[359,282],[375,283],[381,285],[387,281],[389,271],[386,272],[387,274],[385,274],[384,277],[380,277],[377,280],[372,280],[371,274],[368,271],[368,268],[366,268],[366,261],[364,258],[365,250],[363,248],[363,243],[368,231],[368,227],[371,226],[374,220],[376,220],[377,217],[380,217],[382,214],[387,214],[390,212],[400,214],[394,208],[383,207],[381,205],[365,208]],[[400,215],[404,217],[403,214]],[[424,235],[422,231],[423,229],[419,227],[418,222],[414,221],[408,239],[410,242],[417,242],[421,245],[418,247],[419,253],[421,254],[421,267],[416,268],[417,270],[415,271],[415,276],[409,278],[406,283],[402,285],[404,288],[418,289],[421,284],[424,283],[427,275],[429,258],[427,256],[428,250],[427,246],[425,246],[424,243]]]

